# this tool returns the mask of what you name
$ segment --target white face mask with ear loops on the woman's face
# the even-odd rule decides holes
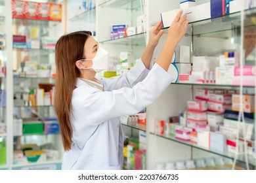
[[[80,60],[92,60],[93,66],[83,69],[94,69],[96,73],[100,73],[108,69],[108,52],[104,48],[98,47],[95,58],[93,59],[80,59]]]

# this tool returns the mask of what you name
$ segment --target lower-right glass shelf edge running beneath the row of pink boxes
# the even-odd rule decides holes
[[[196,145],[192,142],[180,141],[178,139],[175,139],[175,137],[173,137],[171,135],[160,135],[160,134],[156,134],[156,133],[153,133],[153,132],[150,132],[150,134],[151,135],[156,135],[157,137],[161,137],[163,139],[178,142],[178,143],[184,144],[186,146],[191,146],[192,148],[197,148],[197,149],[203,150],[205,152],[210,152],[212,154],[223,156],[225,158],[234,159],[234,154],[229,154],[228,152],[217,152],[217,151],[214,151],[214,150],[209,150],[208,148],[203,148],[202,146],[198,146],[198,145]],[[240,163],[245,163],[244,158],[238,158],[237,161],[240,162]],[[252,166],[252,167],[255,167],[255,160],[249,160],[249,165]]]

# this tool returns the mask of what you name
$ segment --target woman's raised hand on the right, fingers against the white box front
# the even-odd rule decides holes
[[[186,20],[186,15],[182,15],[182,10],[179,11],[173,23],[168,29],[168,37],[167,42],[172,42],[173,44],[177,45],[179,41],[181,41],[182,37],[186,33],[188,29],[188,20]]]

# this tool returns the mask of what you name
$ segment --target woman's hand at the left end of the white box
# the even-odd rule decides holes
[[[156,48],[160,40],[160,37],[163,35],[163,32],[164,32],[162,28],[163,28],[163,25],[161,24],[161,20],[158,22],[158,24],[152,27],[149,34],[148,46],[152,46]]]

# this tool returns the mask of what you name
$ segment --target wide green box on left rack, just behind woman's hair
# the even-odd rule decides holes
[[[43,122],[32,121],[23,123],[23,134],[43,134]]]

